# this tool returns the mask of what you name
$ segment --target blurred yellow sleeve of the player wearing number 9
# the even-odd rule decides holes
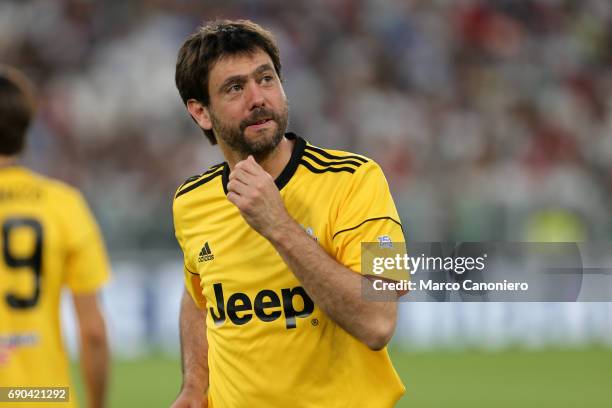
[[[67,227],[65,283],[74,293],[91,293],[110,278],[104,241],[83,196],[74,191],[70,201]]]

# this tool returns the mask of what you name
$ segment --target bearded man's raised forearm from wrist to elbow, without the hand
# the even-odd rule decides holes
[[[387,301],[365,300],[362,285],[371,288],[368,278],[338,263],[293,220],[269,239],[332,320],[371,349],[389,342],[397,317],[395,292],[384,295]]]

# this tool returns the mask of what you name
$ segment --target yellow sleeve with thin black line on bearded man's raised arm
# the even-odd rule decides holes
[[[389,185],[381,168],[373,161],[352,175],[332,227],[335,258],[361,273],[361,243],[404,242],[404,234]]]

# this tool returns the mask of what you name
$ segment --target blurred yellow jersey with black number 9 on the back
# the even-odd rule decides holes
[[[92,293],[108,277],[100,232],[81,194],[23,167],[0,169],[1,387],[71,386],[62,288]],[[75,407],[72,387],[69,398],[29,404]]]

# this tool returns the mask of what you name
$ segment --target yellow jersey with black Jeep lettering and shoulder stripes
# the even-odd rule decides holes
[[[404,237],[380,167],[295,141],[275,183],[289,214],[341,264],[361,272],[361,242]],[[228,201],[227,163],[174,199],[187,290],[207,308],[209,406],[392,407],[404,393],[386,348],[372,351],[308,296],[272,244]]]

